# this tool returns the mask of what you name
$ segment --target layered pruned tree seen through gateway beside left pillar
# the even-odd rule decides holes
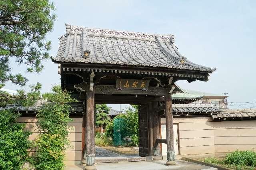
[[[110,108],[106,104],[96,105],[96,125],[106,127],[110,123],[108,111]]]

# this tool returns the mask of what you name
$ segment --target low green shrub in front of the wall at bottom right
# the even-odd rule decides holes
[[[225,162],[230,165],[256,167],[256,152],[253,150],[236,150],[226,155]]]

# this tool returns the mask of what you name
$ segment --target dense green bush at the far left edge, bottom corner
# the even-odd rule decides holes
[[[11,110],[0,111],[0,169],[19,170],[28,158],[31,132],[25,125],[15,123],[20,115]]]

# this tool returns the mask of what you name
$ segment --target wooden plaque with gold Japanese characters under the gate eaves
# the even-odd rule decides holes
[[[116,79],[116,89],[148,90],[150,80]]]

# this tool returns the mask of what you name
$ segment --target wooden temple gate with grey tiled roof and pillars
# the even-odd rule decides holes
[[[172,93],[174,82],[207,81],[215,69],[182,56],[173,35],[83,28],[66,24],[60,37],[58,63],[62,89],[84,103],[82,158],[86,169],[95,162],[95,104],[124,103],[139,107],[139,154],[175,164]],[[160,136],[160,115],[166,117],[166,139]]]

